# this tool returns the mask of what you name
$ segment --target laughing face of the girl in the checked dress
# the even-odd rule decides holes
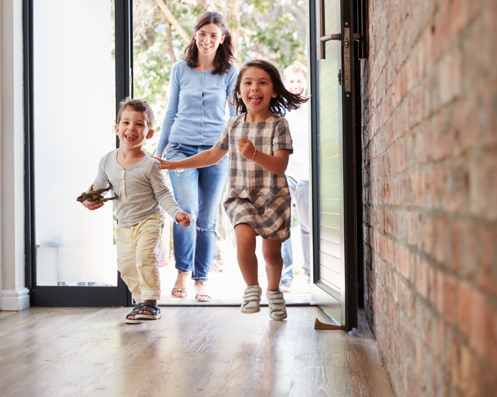
[[[273,89],[269,74],[258,67],[248,67],[240,82],[239,97],[242,97],[248,113],[269,112],[271,98],[278,94]]]

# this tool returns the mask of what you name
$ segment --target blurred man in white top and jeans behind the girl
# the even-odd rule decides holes
[[[307,68],[300,62],[294,62],[283,72],[285,87],[294,94],[306,95]],[[310,283],[310,241],[309,241],[309,117],[308,102],[299,109],[287,112],[286,120],[290,126],[293,141],[293,154],[290,155],[286,178],[290,187],[293,205],[297,209],[297,219],[300,225],[302,239],[303,264],[302,272],[307,283]],[[290,290],[293,280],[292,239],[286,240],[281,246],[283,256],[283,272],[281,274],[280,289],[283,292]]]

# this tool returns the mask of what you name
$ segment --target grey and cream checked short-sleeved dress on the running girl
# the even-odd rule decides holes
[[[215,145],[229,151],[229,191],[224,208],[233,226],[248,223],[259,236],[283,242],[290,238],[290,190],[285,174],[264,170],[238,151],[238,138],[272,155],[275,150],[293,152],[285,118],[273,114],[260,123],[247,123],[245,113],[232,117]]]

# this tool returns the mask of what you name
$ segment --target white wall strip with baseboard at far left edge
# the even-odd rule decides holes
[[[24,280],[24,116],[22,0],[1,0],[1,310],[29,306]]]

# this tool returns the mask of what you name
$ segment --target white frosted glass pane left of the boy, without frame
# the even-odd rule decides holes
[[[117,285],[112,203],[76,201],[115,146],[112,8],[34,0],[37,285]]]

